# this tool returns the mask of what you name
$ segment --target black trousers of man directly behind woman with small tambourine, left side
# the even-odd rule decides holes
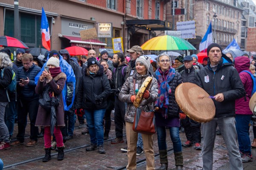
[[[121,102],[118,97],[115,99],[115,126],[116,137],[123,137],[123,127],[125,125],[125,103]]]

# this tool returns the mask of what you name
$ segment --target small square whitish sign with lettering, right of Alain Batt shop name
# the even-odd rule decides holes
[[[98,23],[98,37],[100,38],[112,38],[112,23]]]

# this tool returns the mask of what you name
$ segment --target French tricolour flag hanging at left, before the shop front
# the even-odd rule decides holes
[[[41,34],[42,34],[42,45],[48,51],[51,50],[51,41],[50,41],[50,31],[49,24],[44,12],[44,8],[42,8],[42,18],[41,18]]]

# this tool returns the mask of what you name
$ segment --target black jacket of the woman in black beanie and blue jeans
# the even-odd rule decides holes
[[[79,81],[76,108],[87,110],[107,108],[106,99],[111,93],[111,88],[101,65],[99,65],[97,74],[90,74],[88,76],[84,73]]]

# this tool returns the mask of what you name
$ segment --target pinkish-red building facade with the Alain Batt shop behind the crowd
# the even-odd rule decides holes
[[[112,38],[123,37],[124,50],[142,45],[154,28],[129,24],[128,20],[166,20],[169,0],[22,0],[19,1],[20,40],[30,48],[41,45],[41,8],[47,15],[51,35],[51,49],[68,46],[100,48],[113,51]],[[81,40],[80,31],[109,25],[111,36]],[[106,24],[110,23],[110,24]],[[157,23],[158,24],[158,23]],[[159,25],[159,24],[158,24]],[[104,30],[104,29],[102,29]],[[14,35],[14,0],[0,2],[0,35]]]

